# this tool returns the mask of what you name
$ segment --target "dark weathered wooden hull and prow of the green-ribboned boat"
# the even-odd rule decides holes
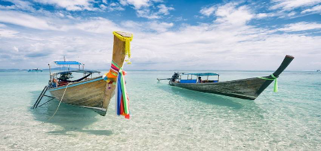
[[[293,56],[285,56],[280,67],[278,67],[274,72],[274,76],[278,77],[278,75],[285,70],[293,59]],[[272,76],[269,75],[264,78],[272,78]],[[169,84],[193,91],[226,95],[246,100],[255,100],[272,82],[273,80],[248,78],[217,83],[177,83],[169,81]]]

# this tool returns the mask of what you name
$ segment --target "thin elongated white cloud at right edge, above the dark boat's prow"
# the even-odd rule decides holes
[[[298,31],[319,30],[319,29],[321,29],[320,23],[299,22],[299,23],[291,23],[289,25],[285,25],[285,27],[280,28],[278,30],[284,31],[284,32],[298,32]]]

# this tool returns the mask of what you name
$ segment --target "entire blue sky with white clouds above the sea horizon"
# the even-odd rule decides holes
[[[321,69],[321,0],[0,0],[0,69],[108,69],[113,31],[134,35],[124,69]]]

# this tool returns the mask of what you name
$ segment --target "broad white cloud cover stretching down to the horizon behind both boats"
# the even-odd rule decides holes
[[[289,69],[312,70],[321,56],[320,21],[259,26],[255,23],[271,19],[272,12],[230,2],[200,7],[196,13],[210,21],[179,24],[160,19],[174,11],[161,1],[126,1],[121,5],[132,5],[139,11],[150,10],[153,3],[157,12],[146,15],[154,13],[154,18],[140,21],[81,17],[64,11],[0,10],[0,69],[45,68],[47,62],[63,56],[91,69],[107,69],[115,30],[134,33],[132,65],[126,69],[274,70],[290,54],[297,58]],[[6,63],[12,60],[21,67]]]

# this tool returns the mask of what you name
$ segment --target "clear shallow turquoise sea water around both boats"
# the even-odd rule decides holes
[[[112,99],[106,117],[61,104],[47,121],[58,101],[30,107],[48,73],[0,72],[0,150],[321,150],[320,72],[282,73],[279,92],[271,84],[255,101],[157,82],[172,73],[128,71],[129,120]],[[221,81],[270,75],[217,73]]]

